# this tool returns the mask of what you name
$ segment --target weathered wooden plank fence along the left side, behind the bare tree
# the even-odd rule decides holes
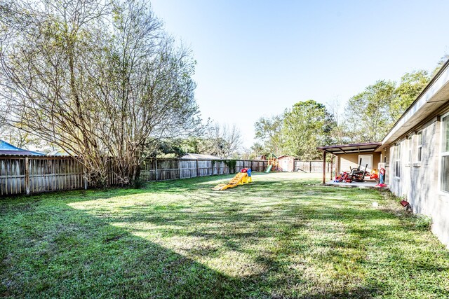
[[[140,172],[143,181],[187,179],[197,176],[232,174],[242,168],[263,172],[267,161],[236,160],[146,160]],[[229,167],[231,166],[231,167]],[[108,174],[110,186],[119,186],[120,180],[114,169]],[[81,163],[69,157],[48,156],[0,156],[0,196],[36,194],[50,191],[88,188]]]

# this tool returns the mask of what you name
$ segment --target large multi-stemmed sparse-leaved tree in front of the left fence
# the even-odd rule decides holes
[[[192,53],[140,1],[4,1],[0,109],[107,185],[138,176],[145,148],[194,130]]]

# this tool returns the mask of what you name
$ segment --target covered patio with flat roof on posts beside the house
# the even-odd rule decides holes
[[[366,172],[377,169],[380,162],[382,162],[382,152],[376,150],[381,145],[381,142],[368,142],[318,147],[317,149],[323,151],[324,165],[326,165],[327,154],[331,155],[331,161],[335,159],[335,169],[330,170],[329,181],[326,181],[326,167],[323,167],[323,184],[328,186],[375,188],[377,184],[375,180],[365,179],[363,182],[336,183],[334,179],[335,175],[340,174],[340,172],[350,172],[351,169],[359,165],[361,165],[361,170],[366,168]]]

